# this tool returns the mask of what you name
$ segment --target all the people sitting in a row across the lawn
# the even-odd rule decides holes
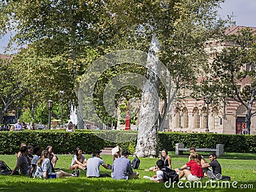
[[[45,150],[40,147],[33,148],[32,146],[26,146],[22,143],[20,151],[17,154],[17,164],[11,175],[19,173],[22,175],[29,175],[29,177],[40,177],[41,179],[47,178],[59,178],[59,177],[79,177],[80,170],[86,170],[86,176],[88,178],[99,177],[112,177],[113,179],[133,179],[138,178],[139,173],[134,172],[131,166],[131,161],[128,159],[129,152],[121,152],[120,148],[113,154],[113,164],[106,164],[100,157],[100,150],[95,150],[92,153],[92,157],[88,160],[83,156],[83,150],[77,147],[72,157],[71,166],[68,168],[73,170],[72,174],[63,172],[62,170],[55,168],[58,156],[54,154],[53,148],[49,145]],[[191,147],[189,156],[189,162],[175,168],[175,174],[179,175],[179,179],[188,179],[189,181],[202,180],[204,177],[209,179],[215,179],[216,175],[221,175],[220,163],[216,160],[216,154],[211,153],[209,155],[210,163],[196,153],[195,147]],[[35,154],[33,156],[32,154]],[[106,169],[111,169],[111,175],[104,173],[100,174],[99,167],[102,165]],[[212,170],[209,169],[212,168]],[[78,170],[76,172],[76,170]],[[155,182],[164,182],[164,172],[166,170],[172,170],[172,158],[168,156],[167,150],[161,151],[161,157],[156,162],[156,166],[150,167],[148,171],[156,172],[153,177],[144,176],[145,179],[154,180]]]

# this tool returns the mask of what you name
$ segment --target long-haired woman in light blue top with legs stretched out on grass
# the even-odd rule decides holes
[[[53,179],[60,177],[79,177],[80,171],[76,174],[70,174],[63,172],[62,170],[53,173],[51,168],[51,160],[49,159],[50,153],[48,150],[43,150],[40,159],[37,161],[37,168],[35,177],[40,177],[41,179]]]

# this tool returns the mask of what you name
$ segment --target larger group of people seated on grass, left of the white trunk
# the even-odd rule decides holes
[[[63,172],[55,168],[58,157],[53,152],[52,146],[48,146],[45,150],[40,147],[27,147],[25,143],[20,146],[17,154],[17,164],[11,175],[19,172],[21,175],[29,175],[29,177],[40,177],[41,179],[52,179],[59,177],[79,177],[80,170],[86,170],[88,178],[112,177],[113,179],[132,179],[137,178],[139,173],[133,172],[131,161],[128,159],[129,152],[118,150],[113,154],[113,164],[106,164],[100,158],[100,150],[95,150],[92,157],[88,160],[83,156],[83,150],[77,147],[72,157],[72,163],[69,167],[73,170],[72,174]],[[32,153],[35,156],[32,156]],[[30,156],[29,156],[30,154]],[[111,175],[105,173],[100,174],[99,167],[102,165],[106,169],[111,169]],[[76,172],[76,170],[78,171]],[[57,171],[58,170],[58,171]]]

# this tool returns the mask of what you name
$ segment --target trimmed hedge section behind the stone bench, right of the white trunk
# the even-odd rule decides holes
[[[175,143],[184,143],[188,148],[216,148],[216,144],[223,144],[225,152],[256,153],[256,135],[161,132],[158,141],[159,148],[167,150],[175,150]]]

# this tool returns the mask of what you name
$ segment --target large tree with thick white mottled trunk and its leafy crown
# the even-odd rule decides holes
[[[157,77],[158,59],[172,75],[175,92],[180,88],[193,88],[196,77],[207,63],[204,42],[212,38],[221,22],[216,20],[216,8],[223,1],[106,1],[113,18],[113,26],[120,31],[122,44],[116,47],[133,47],[148,52],[147,78],[150,83],[143,87],[140,111],[140,125],[136,154],[158,156],[157,125],[149,125],[158,113],[158,101],[152,90],[161,93],[166,102],[165,114],[173,99],[172,90],[164,90]],[[138,36],[145,37],[138,41]],[[125,44],[125,39],[133,44]],[[149,48],[149,51],[148,51]],[[163,70],[163,69],[162,69]],[[163,72],[163,71],[162,71]],[[163,86],[163,84],[162,84]],[[160,126],[164,117],[159,120]]]

